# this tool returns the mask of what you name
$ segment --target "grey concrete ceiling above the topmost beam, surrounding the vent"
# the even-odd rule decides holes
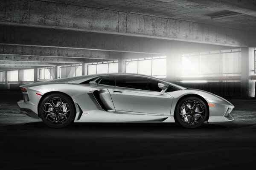
[[[144,14],[178,20],[205,23],[214,26],[254,31],[256,29],[256,0],[41,0],[128,13]],[[210,15],[220,11],[243,15],[211,20]]]

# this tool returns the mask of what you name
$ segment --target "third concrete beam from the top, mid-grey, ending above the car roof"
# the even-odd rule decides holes
[[[84,48],[64,48],[39,45],[0,44],[0,54],[41,57],[72,57],[83,59],[119,59],[120,52]]]

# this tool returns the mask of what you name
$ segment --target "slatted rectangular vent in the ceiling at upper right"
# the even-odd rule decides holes
[[[211,14],[207,14],[207,16],[211,17],[211,20],[224,20],[227,18],[234,18],[234,17],[239,17],[242,15],[244,15],[244,14],[241,14],[239,12],[234,12],[234,11],[228,11],[228,10],[218,11],[218,12],[214,12]]]

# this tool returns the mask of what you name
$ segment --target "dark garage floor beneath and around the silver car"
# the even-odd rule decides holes
[[[256,99],[228,98],[235,121],[185,129],[160,123],[79,123],[62,129],[19,112],[19,91],[0,91],[0,169],[251,169]],[[253,168],[254,169],[254,168]]]

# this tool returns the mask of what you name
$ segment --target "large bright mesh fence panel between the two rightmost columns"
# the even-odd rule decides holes
[[[241,73],[241,49],[187,54],[180,59],[180,75]]]

